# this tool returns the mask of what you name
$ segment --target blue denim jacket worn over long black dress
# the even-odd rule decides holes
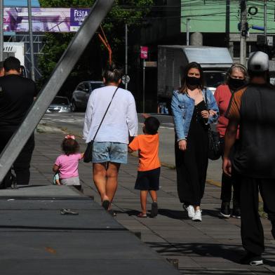
[[[219,109],[213,93],[208,89],[203,89],[203,100],[206,101],[208,109],[217,112],[214,116],[209,116],[208,124],[217,122]],[[173,92],[171,103],[172,113],[175,122],[175,133],[177,140],[187,140],[189,126],[194,112],[195,101],[187,93],[179,93],[178,90]]]

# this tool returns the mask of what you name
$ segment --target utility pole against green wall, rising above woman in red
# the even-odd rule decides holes
[[[246,0],[241,0],[240,63],[246,66]]]

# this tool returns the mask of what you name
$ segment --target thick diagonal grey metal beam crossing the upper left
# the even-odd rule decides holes
[[[112,8],[114,0],[97,0],[90,11],[90,14],[81,25],[79,32],[76,33],[74,39],[65,53],[63,53],[58,64],[53,70],[53,74],[48,82],[43,86],[38,98],[29,110],[25,120],[20,128],[11,137],[11,140],[6,145],[4,151],[0,155],[0,182],[4,179],[6,173],[13,165],[13,162],[20,154],[22,148],[26,144],[30,135],[32,135],[36,125],[39,123],[46,109],[51,104],[53,98],[60,90],[62,84],[69,76],[69,73],[76,65],[76,62],[81,57],[86,49],[90,39],[97,31],[100,23]]]

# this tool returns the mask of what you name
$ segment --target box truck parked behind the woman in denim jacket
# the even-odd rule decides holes
[[[224,74],[232,65],[227,48],[208,46],[159,46],[158,98],[172,97],[173,90],[181,86],[182,74],[189,62],[198,62],[203,68],[205,85],[215,91],[224,81]]]

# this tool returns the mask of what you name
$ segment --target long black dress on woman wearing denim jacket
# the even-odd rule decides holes
[[[201,116],[201,111],[206,109],[204,100],[194,107],[186,151],[181,151],[175,142],[177,194],[180,202],[187,206],[200,206],[206,185],[209,126]]]

